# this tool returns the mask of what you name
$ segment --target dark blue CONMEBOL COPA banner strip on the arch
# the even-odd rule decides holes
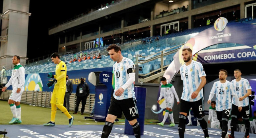
[[[253,48],[235,49],[214,52],[199,52],[196,61],[200,63],[215,63],[229,61],[256,60],[256,50]]]

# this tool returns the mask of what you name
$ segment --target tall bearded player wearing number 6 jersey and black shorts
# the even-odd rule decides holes
[[[200,123],[204,137],[208,138],[207,122],[204,120],[203,110],[203,86],[206,83],[206,74],[201,63],[192,60],[192,50],[182,49],[182,57],[185,62],[180,68],[183,80],[183,92],[180,102],[179,136],[184,138],[186,128],[186,116],[192,107],[194,116]]]

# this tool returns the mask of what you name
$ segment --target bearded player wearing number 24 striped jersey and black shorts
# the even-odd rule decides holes
[[[214,94],[216,94],[216,111],[217,111],[217,119],[220,122],[221,127],[221,138],[225,138],[227,134],[227,123],[229,120],[229,114],[231,109],[231,102],[233,98],[238,102],[238,110],[241,111],[242,107],[239,103],[239,99],[237,94],[234,90],[234,85],[226,80],[227,78],[227,71],[220,70],[219,71],[219,81],[214,82],[211,92],[209,95],[209,99],[207,101],[208,104],[211,103],[211,99],[213,98]]]

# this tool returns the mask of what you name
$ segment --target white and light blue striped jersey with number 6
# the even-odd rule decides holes
[[[197,61],[192,60],[190,65],[184,64],[180,68],[181,80],[183,80],[183,92],[181,99],[188,102],[195,102],[203,98],[203,89],[200,90],[195,99],[191,95],[199,87],[201,83],[200,77],[206,76],[203,65]]]

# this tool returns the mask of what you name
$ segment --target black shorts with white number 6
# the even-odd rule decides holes
[[[204,116],[203,99],[200,99],[195,102],[188,102],[185,100],[181,100],[180,112],[186,112],[187,115],[189,115],[190,108],[192,108],[195,117]]]

